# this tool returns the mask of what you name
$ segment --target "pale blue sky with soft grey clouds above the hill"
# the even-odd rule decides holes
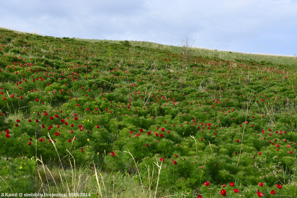
[[[0,27],[53,37],[297,53],[297,0],[0,0]]]

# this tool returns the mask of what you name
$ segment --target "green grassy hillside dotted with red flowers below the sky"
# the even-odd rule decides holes
[[[296,58],[193,51],[1,28],[0,193],[297,197]]]

